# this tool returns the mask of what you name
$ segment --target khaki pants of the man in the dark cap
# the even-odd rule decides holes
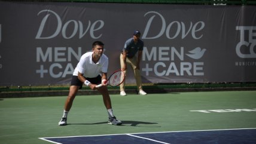
[[[126,58],[126,66],[128,68],[128,66],[132,66],[133,72],[134,72],[134,76],[136,79],[136,85],[137,85],[137,90],[142,90],[142,83],[141,83],[141,72],[139,71],[139,69],[136,69],[136,63],[137,63],[137,59],[136,57],[133,58]],[[120,64],[121,64],[121,68],[123,68],[124,65],[124,61],[123,61],[123,54],[120,54]],[[124,71],[125,75],[127,74],[127,69],[126,71]],[[125,79],[124,82],[122,84],[120,84],[120,91],[124,90],[125,87]]]

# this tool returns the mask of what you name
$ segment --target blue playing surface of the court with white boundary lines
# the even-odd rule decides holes
[[[256,128],[48,137],[40,139],[62,144],[253,144],[256,143]]]

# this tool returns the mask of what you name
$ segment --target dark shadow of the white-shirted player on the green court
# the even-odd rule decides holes
[[[95,122],[95,123],[84,123],[84,125],[93,125],[93,124],[106,124],[107,122]],[[123,126],[132,126],[132,127],[141,127],[139,126],[139,124],[158,124],[157,122],[145,122],[145,121],[122,121]],[[68,125],[72,125],[72,124],[68,124]],[[75,124],[74,124],[75,125]],[[154,125],[156,127],[160,127],[157,125]]]

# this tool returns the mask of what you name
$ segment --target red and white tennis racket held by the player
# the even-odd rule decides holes
[[[115,71],[114,73],[112,73],[112,75],[109,76],[109,78],[107,79],[106,83],[107,85],[110,85],[112,87],[118,86],[121,83],[124,82],[124,72],[121,70]],[[96,85],[96,88],[101,87],[102,84]]]

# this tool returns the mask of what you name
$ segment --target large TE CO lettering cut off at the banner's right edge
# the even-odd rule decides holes
[[[240,31],[240,42],[236,45],[236,54],[241,58],[256,58],[256,26],[236,26]],[[248,38],[247,41],[245,38]],[[241,50],[248,51],[243,53]]]

